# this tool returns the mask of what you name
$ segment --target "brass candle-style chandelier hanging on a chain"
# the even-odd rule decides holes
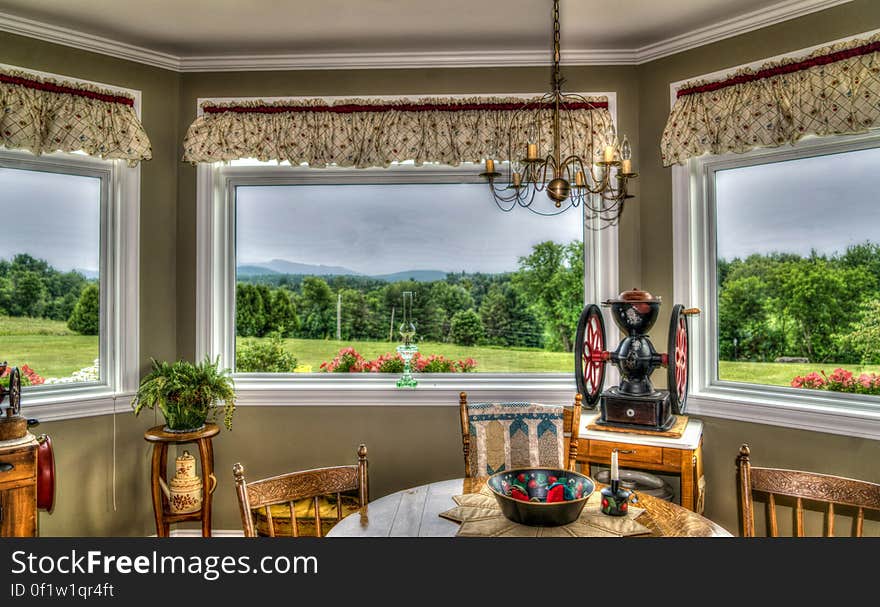
[[[539,215],[558,215],[583,204],[588,226],[615,225],[624,202],[633,198],[627,193],[628,182],[638,177],[633,172],[632,148],[626,136],[618,142],[611,127],[611,140],[603,149],[594,149],[593,112],[582,110],[594,108],[595,103],[563,93],[562,85],[559,0],[553,0],[553,90],[512,114],[507,128],[506,179],[499,183],[502,173],[492,158],[486,160],[481,176],[488,180],[495,203],[503,211],[523,207]],[[575,115],[578,110],[581,116]],[[551,145],[543,155],[542,140]],[[553,206],[536,201],[538,192],[545,192]]]

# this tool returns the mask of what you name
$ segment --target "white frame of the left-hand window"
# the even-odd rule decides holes
[[[134,109],[140,116],[140,91],[17,66],[2,67],[133,95]],[[98,347],[101,379],[98,382],[26,388],[22,395],[22,414],[48,422],[114,413],[118,401],[128,405],[138,385],[140,165],[129,167],[124,160],[102,160],[85,154],[55,152],[36,156],[31,152],[4,148],[0,148],[0,163],[7,168],[101,179],[101,328]]]

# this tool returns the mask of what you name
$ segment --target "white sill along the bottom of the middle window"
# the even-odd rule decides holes
[[[572,402],[577,388],[571,374],[416,375],[416,388],[398,388],[397,374],[369,377],[319,373],[266,377],[235,376],[238,405],[243,406],[457,406],[459,392],[470,401],[534,400]]]

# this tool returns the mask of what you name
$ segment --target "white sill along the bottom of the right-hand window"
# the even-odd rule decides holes
[[[754,388],[712,386],[688,396],[688,413],[880,440],[880,407],[822,393],[792,398]]]

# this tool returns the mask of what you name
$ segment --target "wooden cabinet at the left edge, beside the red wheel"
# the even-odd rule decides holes
[[[37,535],[37,441],[0,448],[0,537]]]

